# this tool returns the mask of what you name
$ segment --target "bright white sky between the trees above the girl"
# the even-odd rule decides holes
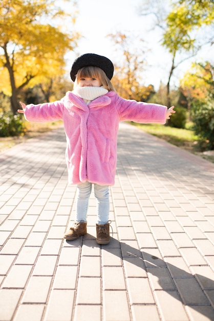
[[[113,64],[119,63],[121,56],[106,35],[122,32],[131,36],[131,51],[139,47],[139,38],[145,41],[142,49],[146,51],[147,66],[143,72],[143,85],[153,84],[157,90],[161,82],[166,84],[172,58],[160,45],[161,30],[151,30],[154,25],[153,17],[139,14],[141,3],[142,0],[78,0],[75,30],[82,34],[82,38],[78,40],[75,51],[66,56],[68,68],[76,57],[88,52],[107,56]],[[163,1],[164,3],[167,1]],[[68,4],[66,6],[68,10]],[[211,57],[211,50],[213,56],[213,48],[206,48],[198,54],[197,59]],[[195,59],[186,61],[175,70],[172,85],[179,86],[179,77],[183,76]]]

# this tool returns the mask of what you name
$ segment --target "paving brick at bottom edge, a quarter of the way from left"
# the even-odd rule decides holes
[[[74,295],[74,290],[51,291],[45,321],[70,321],[72,319]]]

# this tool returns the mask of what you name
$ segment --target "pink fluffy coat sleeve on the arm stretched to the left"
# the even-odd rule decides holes
[[[61,101],[44,103],[38,105],[27,105],[25,108],[25,118],[29,122],[53,122],[62,120],[63,98]]]

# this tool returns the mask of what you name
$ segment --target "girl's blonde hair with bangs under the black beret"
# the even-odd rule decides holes
[[[106,76],[105,72],[101,68],[95,66],[85,66],[77,71],[74,88],[78,86],[78,79],[88,77],[98,78],[105,89],[116,92],[114,86],[112,85],[110,79]]]

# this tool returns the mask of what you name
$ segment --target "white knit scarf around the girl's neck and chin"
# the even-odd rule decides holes
[[[91,101],[93,101],[94,99],[105,95],[106,93],[108,93],[109,91],[107,89],[105,89],[103,86],[101,87],[76,87],[73,90],[73,93],[76,94],[77,96],[79,96],[80,98],[82,98],[85,103],[87,103],[87,105],[89,105],[89,103],[91,103]]]

